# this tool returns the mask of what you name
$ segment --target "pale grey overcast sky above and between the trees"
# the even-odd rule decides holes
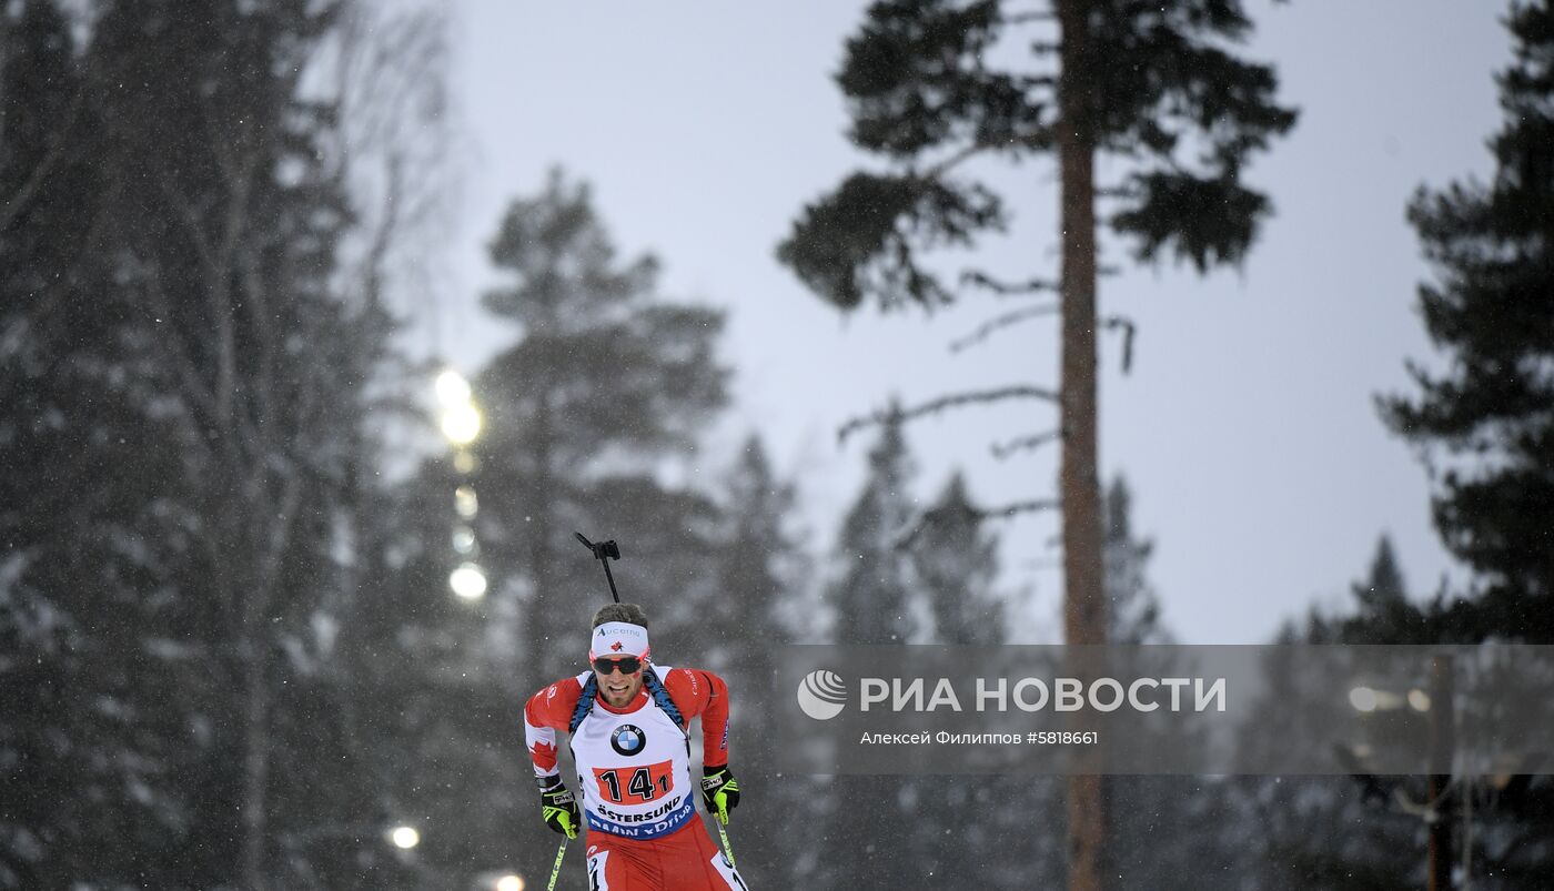
[[[951,354],[949,341],[1009,304],[971,296],[932,318],[844,318],[775,262],[800,206],[873,163],[844,138],[831,81],[864,3],[463,0],[455,9],[468,160],[435,346],[466,371],[516,334],[479,309],[494,281],[483,245],[507,203],[559,163],[594,185],[623,253],[664,261],[667,295],[727,307],[735,405],[702,469],[715,472],[760,432],[800,481],[819,546],[830,546],[862,478],[869,438],[836,444],[848,418],[892,394],[912,404],[1057,383],[1052,321]],[[1262,641],[1313,601],[1341,602],[1382,532],[1416,593],[1459,573],[1430,526],[1423,469],[1372,399],[1406,387],[1405,357],[1430,355],[1414,310],[1427,269],[1403,219],[1408,196],[1492,169],[1492,73],[1509,57],[1503,3],[1254,0],[1249,9],[1248,53],[1277,67],[1282,101],[1301,109],[1293,135],[1251,171],[1274,219],[1242,270],[1198,278],[1167,264],[1100,286],[1102,312],[1139,326],[1130,376],[1119,343],[1102,341],[1102,466],[1133,486],[1134,525],[1156,542],[1152,577],[1184,643]],[[1055,276],[1054,166],[977,172],[1016,214],[979,261],[1010,278]],[[988,455],[993,442],[1051,425],[1040,404],[914,424],[918,495],[934,497],[956,466],[985,504],[1054,495],[1055,455]],[[1030,626],[1015,636],[1052,640],[1055,518],[998,531],[1005,584],[1033,596]]]

